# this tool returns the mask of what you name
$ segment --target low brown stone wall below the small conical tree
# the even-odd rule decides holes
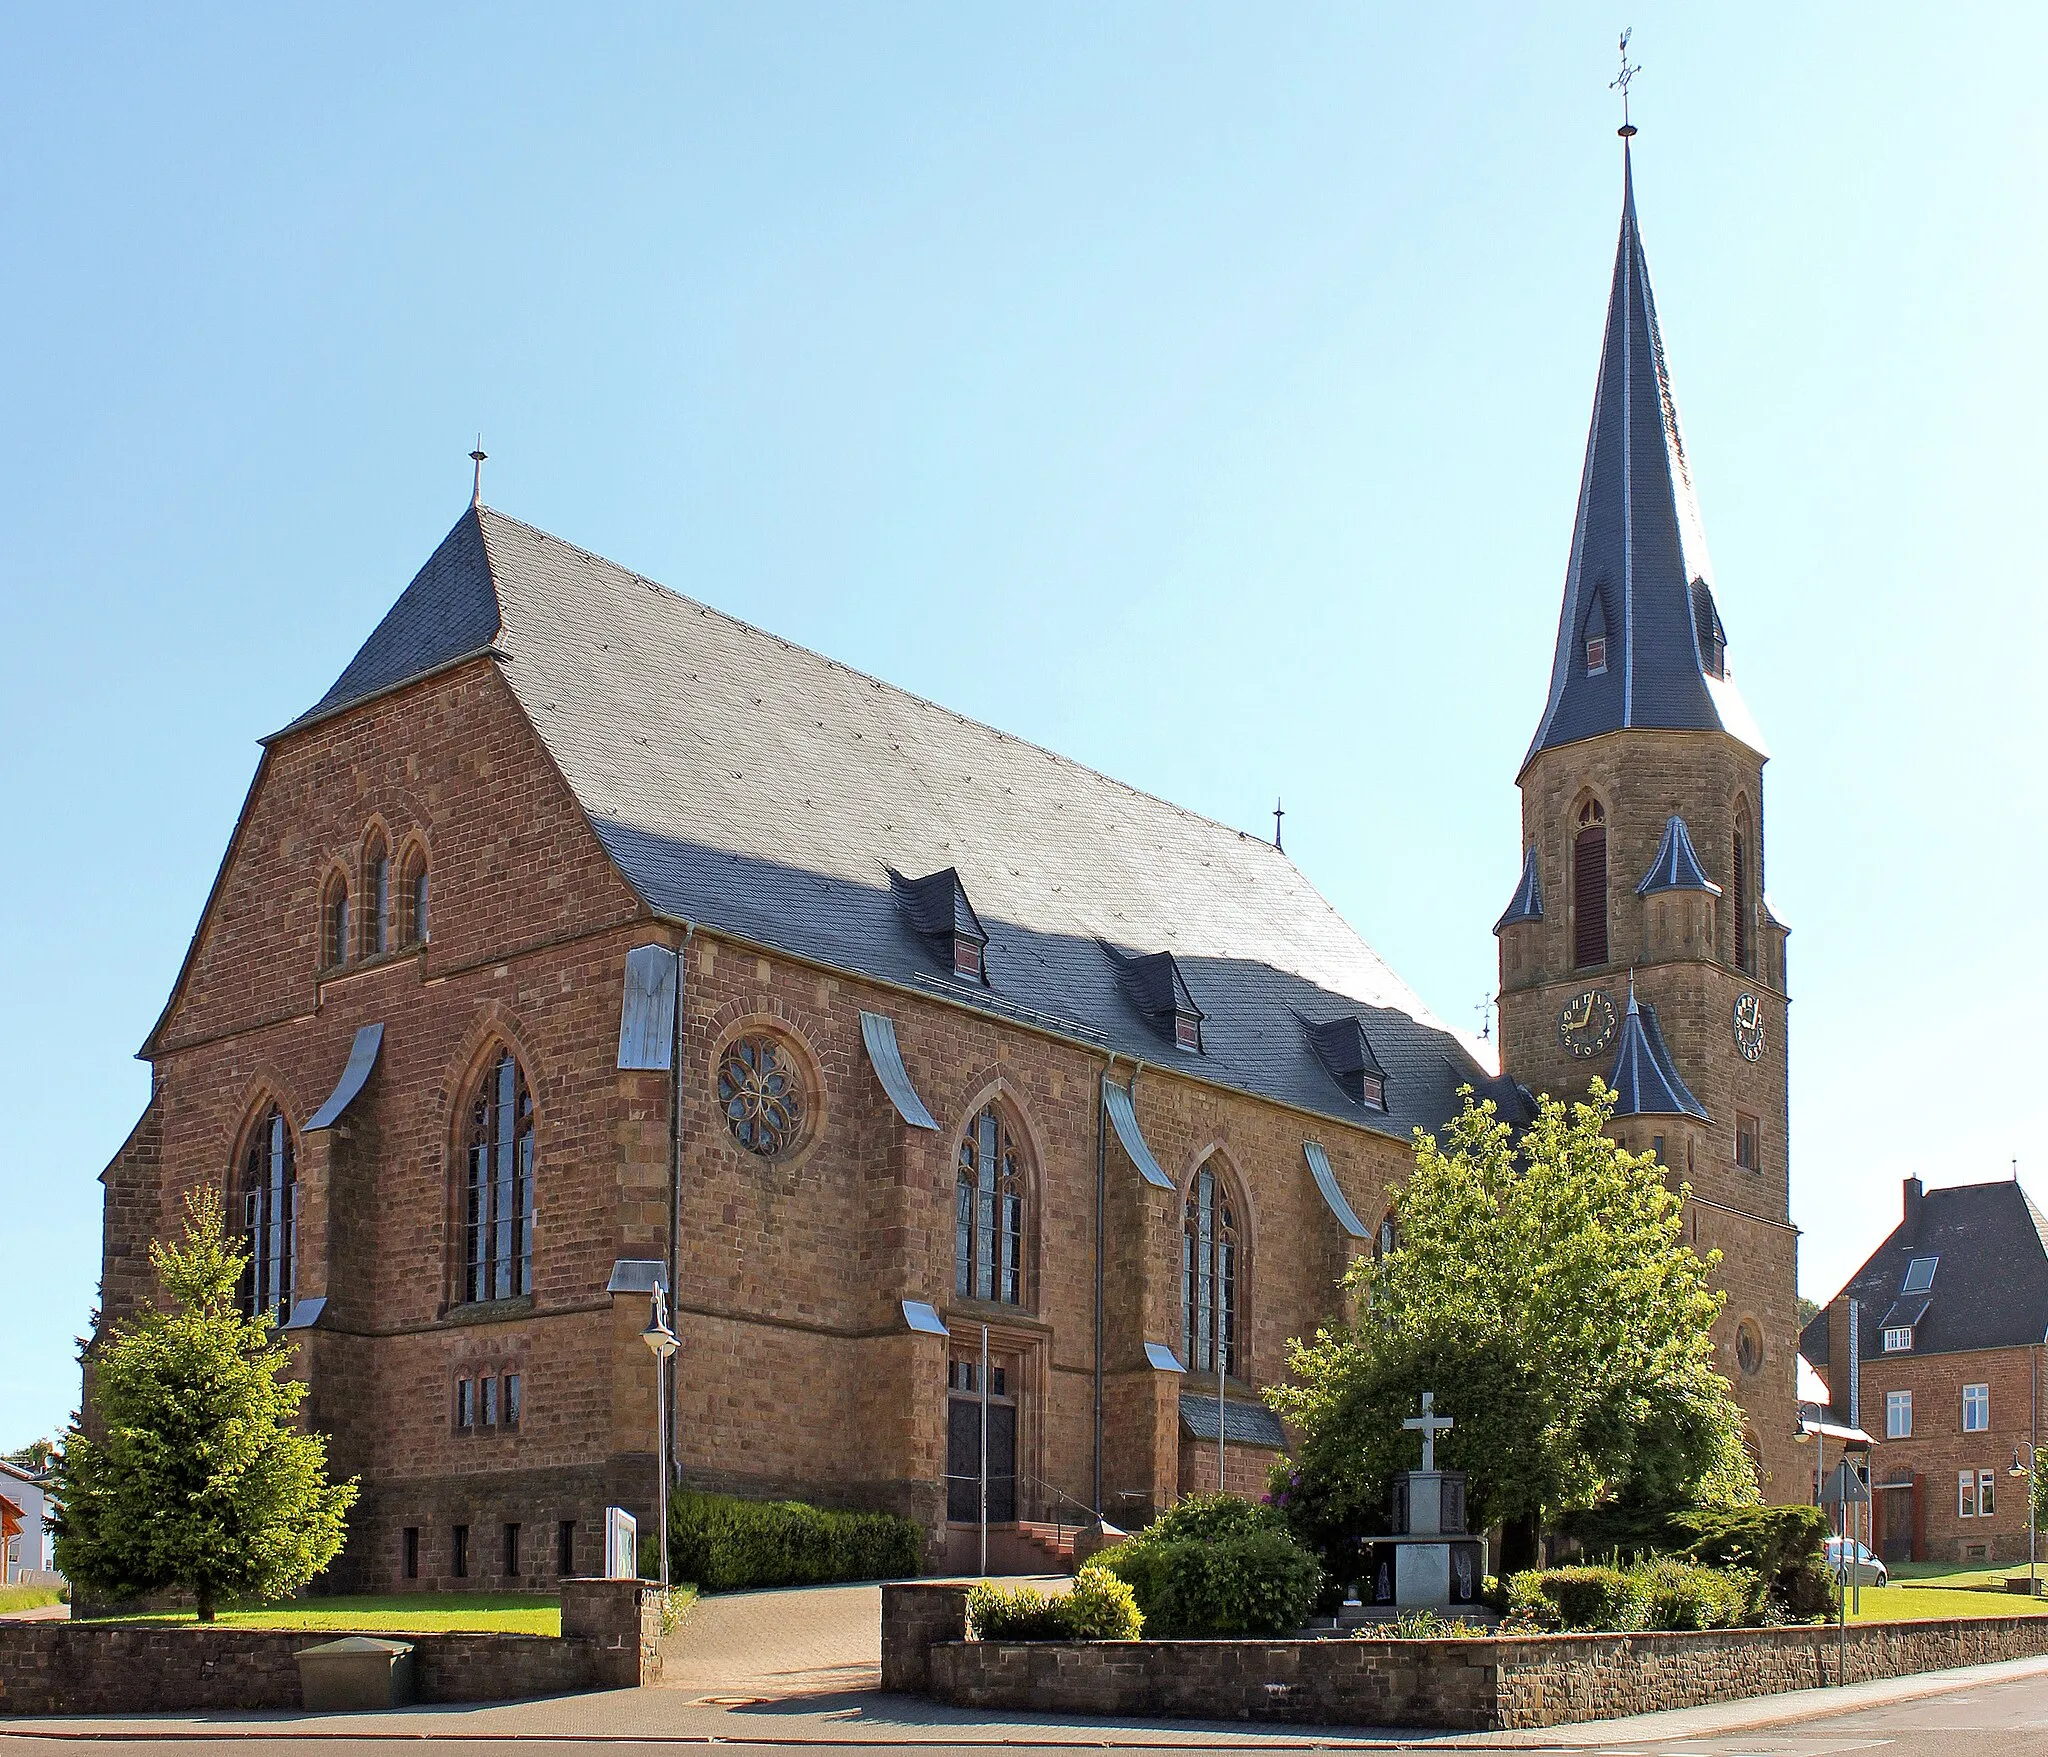
[[[635,1581],[563,1581],[561,1636],[381,1634],[412,1646],[420,1702],[512,1702],[662,1675],[662,1597]],[[340,1630],[225,1624],[0,1624],[0,1716],[299,1708],[299,1648]]]

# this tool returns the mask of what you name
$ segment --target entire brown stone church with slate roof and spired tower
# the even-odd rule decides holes
[[[1784,1493],[1763,752],[1708,575],[1649,532],[1690,485],[1638,278],[1630,197],[1499,926],[1511,1077],[1278,848],[473,506],[264,741],[102,1177],[104,1317],[219,1192],[365,1485],[338,1585],[590,1571],[606,1505],[651,1522],[662,1454],[911,1513],[963,1567],[983,1335],[999,1524],[1212,1489],[1219,1395],[1255,1493],[1284,1446],[1260,1390],[1378,1243],[1411,1130],[1462,1085],[1516,1116],[1602,1073],[1726,1253],[1724,1370]]]

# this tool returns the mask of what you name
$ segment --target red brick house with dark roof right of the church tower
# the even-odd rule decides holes
[[[1872,1548],[1890,1560],[2028,1558],[2048,1337],[2048,1218],[2017,1182],[1923,1190],[1800,1352],[1833,1413],[1870,1431]]]

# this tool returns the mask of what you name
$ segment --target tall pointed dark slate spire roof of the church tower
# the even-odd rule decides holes
[[[1726,676],[1712,580],[1624,147],[1622,235],[1565,608],[1550,694],[1524,768],[1536,752],[1622,727],[1720,729],[1763,752],[1763,735]],[[1599,674],[1585,663],[1587,635],[1608,641]]]

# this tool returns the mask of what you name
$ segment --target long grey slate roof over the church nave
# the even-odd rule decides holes
[[[1491,1046],[1436,1020],[1270,842],[1196,817],[469,508],[334,688],[276,737],[489,651],[647,905],[819,965],[1102,1042],[1407,1139]],[[934,969],[889,872],[956,868],[987,991]],[[1161,1044],[1116,952],[1174,954],[1202,1055]],[[1391,1110],[1300,1018],[1360,1014]]]

